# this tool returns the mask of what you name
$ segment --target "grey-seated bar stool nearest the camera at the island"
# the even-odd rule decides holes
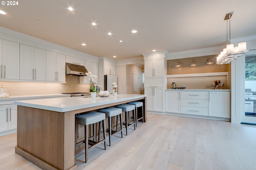
[[[99,144],[101,144],[102,142],[104,142],[104,149],[106,150],[106,127],[105,127],[105,120],[106,120],[106,115],[105,113],[100,113],[100,112],[92,112],[92,113],[87,113],[84,115],[78,115],[76,116],[76,127],[75,127],[75,150],[76,150],[76,146],[78,146],[76,144],[76,140],[77,140],[77,132],[78,132],[78,124],[79,125],[84,125],[84,143],[85,143],[85,163],[88,160],[88,149],[89,148],[93,148]],[[88,137],[88,133],[89,133],[89,125],[95,124],[95,123],[100,123],[102,122],[102,128],[103,128],[103,140],[98,140],[98,142],[94,141],[94,140],[89,140]],[[100,128],[100,126],[99,126]],[[93,136],[95,136],[94,134],[94,130],[93,130]],[[98,138],[100,138],[100,133],[98,134]],[[91,145],[90,147],[88,147],[89,145]]]

